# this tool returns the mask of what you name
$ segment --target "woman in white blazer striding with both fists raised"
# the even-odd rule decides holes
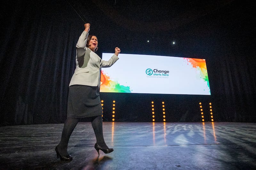
[[[55,151],[57,158],[62,161],[71,161],[68,153],[69,137],[75,129],[80,118],[87,118],[92,122],[92,128],[96,136],[94,148],[104,153],[113,152],[108,148],[103,138],[102,130],[102,106],[100,101],[100,70],[102,67],[110,67],[119,58],[120,48],[115,48],[115,54],[104,61],[94,52],[98,49],[98,40],[95,35],[89,35],[90,24],[84,24],[84,31],[76,44],[76,70],[71,78],[68,93],[67,120],[64,123],[60,143]]]

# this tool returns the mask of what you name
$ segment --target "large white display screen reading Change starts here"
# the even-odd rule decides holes
[[[113,53],[103,53],[108,61]],[[211,95],[205,59],[119,54],[101,69],[100,92]]]

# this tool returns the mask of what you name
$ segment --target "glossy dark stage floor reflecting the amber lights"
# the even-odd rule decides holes
[[[256,123],[103,122],[114,152],[100,156],[90,122],[79,122],[56,158],[63,123],[0,127],[0,169],[256,169]]]

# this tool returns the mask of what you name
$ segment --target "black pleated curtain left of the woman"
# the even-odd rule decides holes
[[[63,2],[7,1],[2,6],[1,124],[65,120],[83,21]]]

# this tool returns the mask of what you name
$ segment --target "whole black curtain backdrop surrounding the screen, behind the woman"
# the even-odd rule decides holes
[[[91,19],[83,12],[80,18],[74,4],[2,2],[1,125],[65,121],[75,45],[84,29],[81,18]],[[201,121],[199,101],[213,103],[215,121],[256,122],[254,2],[232,1],[171,31],[151,33],[117,25],[93,2],[81,7],[94,17],[90,33],[99,39],[98,55],[118,46],[122,53],[206,59],[211,96],[102,93],[104,121],[111,121],[115,99],[120,113],[116,121],[151,121],[148,103],[163,100],[172,113],[169,122]],[[153,43],[145,44],[145,37]],[[172,46],[167,41],[171,38],[179,44]]]

